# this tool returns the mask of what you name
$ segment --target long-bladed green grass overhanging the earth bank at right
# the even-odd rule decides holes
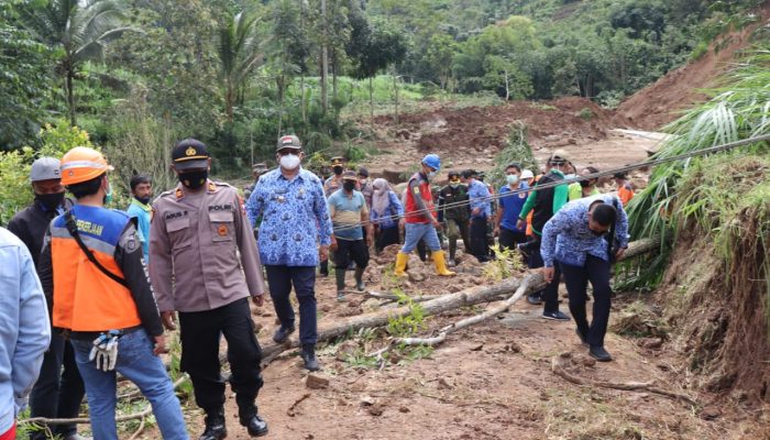
[[[769,66],[767,48],[756,50],[736,65],[724,86],[711,91],[708,102],[668,128],[672,136],[656,158],[770,133]],[[751,245],[763,249],[770,235],[768,152],[768,143],[760,142],[713,157],[656,166],[649,186],[628,206],[631,237],[657,235],[663,243],[661,254],[644,263],[646,270],[640,271],[638,282],[660,282],[673,239],[693,224],[714,240],[727,263],[734,258],[735,243],[748,239],[752,222],[757,224],[750,231]],[[765,249],[765,255],[767,252]],[[767,258],[757,268],[768,273]]]

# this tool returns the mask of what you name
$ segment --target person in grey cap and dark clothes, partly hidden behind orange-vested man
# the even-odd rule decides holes
[[[69,209],[73,204],[64,197],[57,158],[36,160],[30,169],[30,182],[35,199],[32,205],[13,216],[8,223],[8,230],[24,242],[36,267],[48,223],[54,217]],[[86,389],[77,371],[73,348],[59,333],[54,332],[51,346],[43,358],[40,377],[30,395],[30,417],[76,418],[85,394]],[[48,429],[54,436],[61,436],[65,440],[79,438],[74,424],[52,425]],[[30,438],[44,439],[45,430],[33,432]]]

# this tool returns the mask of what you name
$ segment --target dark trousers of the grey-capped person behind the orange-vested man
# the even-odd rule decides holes
[[[85,394],[73,346],[61,334],[53,333],[51,346],[43,356],[40,377],[30,394],[30,417],[76,418]],[[67,437],[77,431],[75,425],[52,425],[50,428],[54,437]],[[44,439],[45,431],[33,432],[30,438]]]

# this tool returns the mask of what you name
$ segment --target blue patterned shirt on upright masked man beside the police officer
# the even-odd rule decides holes
[[[287,180],[280,168],[262,177],[246,202],[246,216],[260,226],[260,257],[265,265],[316,266],[318,244],[331,244],[331,219],[321,180],[300,168]]]

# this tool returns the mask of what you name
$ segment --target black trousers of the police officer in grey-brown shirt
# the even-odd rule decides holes
[[[315,268],[314,268],[315,272]],[[195,400],[207,414],[224,405],[224,381],[220,374],[219,341],[228,341],[231,385],[241,415],[256,411],[254,400],[262,387],[262,350],[254,337],[249,299],[205,311],[179,312],[182,370],[190,375]]]

